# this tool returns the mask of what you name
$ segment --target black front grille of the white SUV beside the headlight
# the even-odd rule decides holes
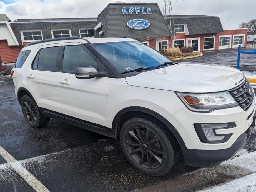
[[[245,79],[245,81],[235,87],[234,89],[230,89],[228,92],[235,99],[238,105],[243,109],[247,110],[252,104],[254,95],[250,95],[249,93],[249,82]]]

